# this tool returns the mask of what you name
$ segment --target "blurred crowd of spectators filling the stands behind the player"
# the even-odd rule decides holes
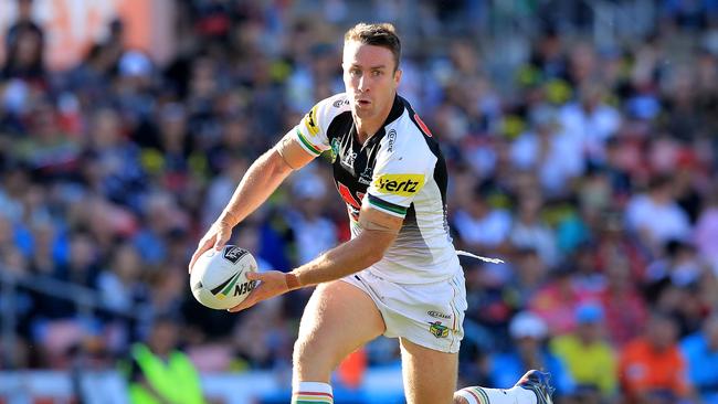
[[[511,57],[493,2],[409,2],[400,94],[442,142],[454,242],[507,262],[463,263],[464,385],[540,368],[564,403],[718,403],[718,2],[634,2],[650,30],[608,43],[584,2],[515,2],[535,23]],[[342,91],[344,30],[406,2],[177,1],[170,63],[117,20],[62,72],[31,3],[0,71],[0,270],[24,279],[0,368],[114,366],[171,318],[201,371],[286,375],[310,290],[209,310],[189,256],[249,164]],[[235,228],[262,268],[349,237],[321,160]],[[398,361],[390,340],[363,353]]]

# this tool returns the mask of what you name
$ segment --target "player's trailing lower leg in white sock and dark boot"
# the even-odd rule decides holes
[[[552,404],[548,373],[530,370],[509,390],[472,386],[454,395],[455,404]]]

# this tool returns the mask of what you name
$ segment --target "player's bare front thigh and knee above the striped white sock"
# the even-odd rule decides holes
[[[336,280],[317,286],[304,309],[294,345],[294,380],[325,382],[349,353],[384,332],[373,300]]]

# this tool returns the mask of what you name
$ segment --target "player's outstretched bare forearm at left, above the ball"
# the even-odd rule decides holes
[[[289,173],[292,168],[275,149],[265,152],[250,166],[220,220],[236,225],[264,203]]]

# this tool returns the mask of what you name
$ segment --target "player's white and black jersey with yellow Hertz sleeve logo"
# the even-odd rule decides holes
[[[392,246],[369,270],[400,284],[451,278],[461,266],[446,223],[446,163],[439,143],[397,96],[382,128],[362,145],[349,103],[346,94],[319,102],[292,136],[314,156],[330,150],[352,236],[361,232],[362,204],[404,219]]]

